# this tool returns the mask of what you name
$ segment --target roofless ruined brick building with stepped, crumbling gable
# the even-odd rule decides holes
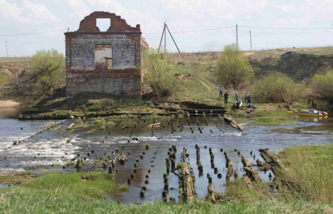
[[[107,31],[96,26],[97,18],[110,19]],[[131,27],[119,15],[96,11],[65,37],[67,98],[83,92],[141,97],[141,67],[148,43],[140,24]]]

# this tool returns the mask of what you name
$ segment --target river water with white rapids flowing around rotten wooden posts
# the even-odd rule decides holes
[[[0,112],[0,115],[5,115]],[[205,122],[207,119],[207,124]],[[127,180],[134,175],[128,192],[116,192],[109,196],[109,199],[116,199],[122,203],[134,203],[142,201],[161,200],[163,191],[163,174],[166,173],[165,158],[168,157],[168,149],[176,145],[176,163],[180,161],[180,154],[183,147],[189,153],[190,166],[195,174],[195,188],[199,198],[207,194],[207,173],[213,178],[215,192],[225,190],[225,158],[224,152],[234,163],[234,170],[239,177],[244,174],[242,171],[241,159],[237,154],[245,154],[248,160],[255,164],[255,160],[261,157],[258,149],[269,148],[277,153],[283,148],[295,145],[328,144],[333,140],[333,120],[325,119],[303,119],[300,122],[279,125],[243,125],[245,132],[239,133],[231,126],[225,124],[218,117],[191,117],[191,126],[186,123],[183,131],[174,125],[176,131],[171,133],[171,125],[168,125],[169,118],[157,119],[156,122],[163,122],[162,127],[146,127],[152,124],[153,120],[147,119],[144,123],[140,119],[138,128],[126,128],[123,126],[134,127],[137,123],[135,119],[111,119],[114,123],[101,130],[98,125],[77,129],[67,130],[66,128],[81,120],[68,119],[64,121],[19,121],[0,116],[0,170],[36,170],[52,169],[64,172],[77,171],[74,166],[62,169],[61,165],[70,161],[72,158],[86,157],[85,162],[94,163],[99,157],[107,158],[109,155],[114,158],[112,153],[119,150],[119,153],[127,155],[127,162],[117,166],[118,172],[114,172],[117,184],[126,184]],[[196,125],[196,119],[200,123],[202,133]],[[121,121],[121,122],[120,122]],[[50,130],[38,133],[41,129],[54,123],[62,122]],[[82,122],[86,122],[83,120]],[[115,127],[115,123],[120,124]],[[152,135],[153,130],[153,135]],[[191,132],[193,130],[193,133]],[[132,132],[132,134],[131,134]],[[137,139],[132,139],[137,138]],[[13,145],[14,141],[21,141]],[[145,144],[149,144],[146,150]],[[201,163],[204,166],[203,175],[199,176],[196,166],[195,145],[200,147]],[[204,147],[207,147],[206,149]],[[210,167],[209,148],[215,156],[215,167],[222,178],[218,179],[214,170]],[[223,149],[223,152],[220,150]],[[235,152],[236,150],[236,152]],[[92,151],[94,151],[92,153]],[[145,151],[143,159],[140,156]],[[253,155],[250,155],[252,151]],[[91,153],[88,156],[88,152]],[[130,154],[128,154],[130,152]],[[137,173],[134,173],[134,162],[139,160]],[[81,171],[94,171],[100,165],[90,164],[82,167]],[[255,168],[255,167],[254,167]],[[147,172],[150,169],[150,174]],[[104,169],[107,173],[107,169]],[[261,179],[270,182],[268,174],[270,171],[259,172]],[[148,174],[149,183],[146,184],[147,191],[144,198],[140,198],[141,187],[145,185],[145,176]],[[174,173],[169,173],[169,197],[178,200],[178,177]],[[233,177],[231,177],[233,180]]]

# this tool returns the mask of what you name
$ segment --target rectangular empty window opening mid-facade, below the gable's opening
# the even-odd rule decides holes
[[[95,69],[112,70],[111,44],[95,44]]]

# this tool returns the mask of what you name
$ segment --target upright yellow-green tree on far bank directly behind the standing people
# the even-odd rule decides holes
[[[236,89],[254,76],[247,56],[236,44],[224,46],[217,62],[216,77],[225,86]]]

